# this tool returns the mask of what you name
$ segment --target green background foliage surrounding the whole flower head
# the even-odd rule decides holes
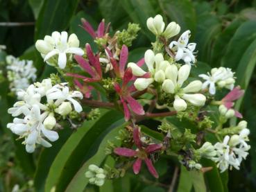
[[[105,18],[113,30],[127,28],[129,22],[142,28],[137,40],[130,47],[129,60],[142,58],[151,46],[153,35],[146,28],[148,17],[161,14],[166,21],[176,21],[182,31],[191,30],[193,42],[197,43],[198,64],[195,76],[210,67],[230,67],[236,71],[237,84],[246,89],[244,99],[237,104],[250,128],[250,157],[240,171],[220,174],[214,164],[211,172],[203,176],[187,173],[181,168],[180,180],[175,189],[179,191],[254,191],[256,187],[256,1],[189,1],[189,0],[0,0],[0,44],[7,46],[6,53],[34,60],[39,79],[54,72],[43,64],[33,44],[38,38],[53,30],[69,30],[76,33],[84,46],[92,39],[78,26],[85,17],[96,28]],[[4,26],[17,22],[18,26]],[[33,22],[27,25],[26,22]],[[140,47],[140,48],[139,48]],[[145,49],[144,49],[144,48]],[[139,49],[138,49],[139,48]],[[7,82],[1,82],[1,128],[0,128],[0,191],[11,191],[19,184],[21,191],[83,191],[87,183],[84,172],[88,164],[105,162],[102,150],[123,125],[117,112],[102,112],[96,121],[88,121],[71,134],[60,132],[61,139],[52,148],[42,149],[28,155],[24,147],[6,129],[10,116],[6,113],[15,98],[8,96]],[[115,118],[105,123],[104,119]],[[178,119],[171,122],[179,123]],[[232,123],[236,120],[234,119]],[[157,121],[143,122],[156,130]],[[186,126],[185,126],[186,127]],[[145,131],[146,132],[146,129]],[[154,132],[148,132],[154,135]],[[70,136],[70,137],[69,137]],[[105,138],[105,139],[104,139]],[[101,150],[100,150],[101,149]],[[167,191],[173,177],[176,159],[163,157],[156,164],[160,179],[155,181],[144,170],[142,174],[126,174],[125,177],[107,182],[100,189],[87,186],[86,191]],[[32,184],[31,180],[34,180]],[[139,181],[139,182],[138,182]],[[206,183],[206,185],[205,185]],[[184,187],[185,186],[185,187]],[[209,188],[209,189],[206,189]],[[74,190],[76,189],[76,190]]]

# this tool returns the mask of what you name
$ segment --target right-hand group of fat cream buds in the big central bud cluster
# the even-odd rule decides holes
[[[200,91],[202,82],[200,80],[194,80],[186,87],[182,88],[183,83],[189,77],[191,66],[185,64],[180,69],[175,64],[171,64],[165,70],[165,75],[168,79],[164,80],[162,89],[168,94],[174,94],[173,107],[176,111],[184,111],[187,109],[188,101],[195,106],[205,105],[206,98],[203,94],[189,94]]]

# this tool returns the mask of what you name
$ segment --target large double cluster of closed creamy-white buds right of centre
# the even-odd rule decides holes
[[[148,71],[151,73],[151,78],[137,78],[134,83],[137,90],[142,91],[155,81],[162,83],[164,92],[174,95],[173,107],[176,111],[187,109],[185,101],[195,106],[205,105],[206,98],[203,94],[191,94],[200,91],[202,88],[200,80],[194,80],[182,88],[182,85],[189,77],[191,70],[189,64],[184,64],[178,69],[176,64],[170,64],[167,60],[164,60],[161,53],[155,55],[151,50],[146,51],[144,58]],[[146,71],[135,63],[128,63],[128,67],[132,68],[134,76],[140,77],[146,74]]]

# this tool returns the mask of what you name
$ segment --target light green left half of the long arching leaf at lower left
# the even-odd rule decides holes
[[[85,121],[85,123],[83,123],[83,126],[81,128],[78,128],[78,130],[74,132],[74,134],[72,134],[69,139],[67,139],[65,144],[60,149],[60,152],[58,152],[58,155],[54,159],[53,164],[51,165],[45,184],[46,191],[51,191],[51,188],[58,183],[58,180],[60,180],[62,171],[64,170],[67,162],[69,161],[69,158],[77,158],[74,157],[73,153],[77,150],[78,146],[83,146],[83,148],[81,149],[86,151],[86,143],[83,143],[83,141],[85,139],[91,139],[91,141],[94,141],[95,137],[92,137],[92,133],[96,131],[95,125],[98,121],[103,121],[105,119],[104,116],[106,115],[109,117],[110,112],[108,110],[101,110],[101,116],[99,117],[99,119],[96,119],[94,121]],[[102,128],[105,129],[105,126],[103,126]],[[92,130],[91,135],[89,135],[90,130]],[[77,155],[75,154],[75,156]]]

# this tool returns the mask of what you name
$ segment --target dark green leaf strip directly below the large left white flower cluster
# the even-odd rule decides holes
[[[65,143],[67,138],[70,136],[71,132],[72,130],[68,126],[63,130],[60,130],[60,132],[58,132],[60,138],[52,143],[53,146],[51,148],[44,148],[42,150],[37,162],[37,170],[34,177],[35,191],[44,191],[44,184],[51,164],[63,143]]]

